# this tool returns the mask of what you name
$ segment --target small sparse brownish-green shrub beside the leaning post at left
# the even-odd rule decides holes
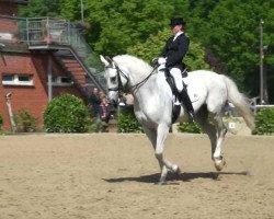
[[[20,132],[33,132],[37,129],[38,119],[31,115],[26,108],[19,110],[14,115],[16,130]]]

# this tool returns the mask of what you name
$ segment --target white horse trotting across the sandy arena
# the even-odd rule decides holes
[[[113,59],[101,56],[105,65],[105,79],[110,100],[117,102],[118,92],[129,88],[134,95],[134,112],[138,122],[155,148],[155,155],[160,164],[159,183],[165,182],[169,171],[180,173],[176,164],[163,157],[164,140],[172,125],[173,95],[165,81],[164,73],[129,55]],[[222,123],[224,108],[231,102],[244,118],[250,129],[254,128],[254,118],[247,99],[239,93],[237,85],[226,76],[213,71],[197,70],[189,72],[184,79],[189,92],[193,92],[195,120],[208,135],[212,143],[212,159],[216,170],[225,165],[221,143],[227,132]],[[210,120],[209,120],[210,117]],[[187,120],[187,113],[181,107],[179,122]]]

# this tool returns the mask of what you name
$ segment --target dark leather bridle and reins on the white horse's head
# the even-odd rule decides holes
[[[126,91],[126,90],[136,90],[136,89],[139,89],[141,85],[144,85],[147,81],[148,81],[148,79],[153,74],[153,72],[155,72],[155,70],[156,70],[156,68],[157,68],[157,66],[155,66],[153,67],[153,69],[152,69],[152,71],[144,79],[144,80],[141,80],[140,82],[138,82],[138,83],[136,83],[136,84],[134,84],[134,85],[132,85],[132,87],[129,87],[128,85],[128,81],[129,81],[129,78],[126,76],[126,73],[123,71],[123,70],[121,70],[121,68],[118,67],[118,65],[113,60],[113,59],[111,59],[110,57],[106,57],[106,59],[109,60],[109,61],[111,61],[112,64],[114,64],[114,66],[113,65],[110,65],[109,67],[106,67],[106,68],[113,68],[113,69],[116,69],[116,74],[117,74],[117,81],[118,81],[118,85],[116,87],[116,88],[110,88],[109,89],[109,91],[118,91],[118,92],[123,92],[123,91]],[[111,64],[110,62],[110,64]],[[122,83],[122,78],[121,77],[123,77],[123,78],[125,78],[126,79],[126,85],[124,87],[123,85],[123,83]]]

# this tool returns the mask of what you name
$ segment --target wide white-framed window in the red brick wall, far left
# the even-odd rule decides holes
[[[33,85],[32,74],[2,73],[3,85]]]

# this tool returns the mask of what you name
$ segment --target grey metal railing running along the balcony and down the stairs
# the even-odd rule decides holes
[[[28,48],[43,48],[45,45],[52,47],[71,47],[77,54],[77,57],[91,69],[91,73],[105,87],[104,78],[99,68],[100,61],[96,60],[96,55],[87,44],[79,28],[69,21],[64,19],[45,18],[14,18],[1,16],[0,19],[10,19],[16,21],[18,31],[12,34],[13,42],[28,45]],[[14,41],[15,39],[15,41]],[[1,41],[1,39],[0,39]],[[71,49],[67,51],[59,49],[55,53],[57,56],[70,55]],[[67,54],[66,54],[67,53]],[[90,60],[93,61],[90,61]],[[92,65],[90,65],[92,64]],[[98,64],[94,66],[94,64]],[[90,85],[90,84],[89,84]],[[94,84],[95,85],[95,84]]]

